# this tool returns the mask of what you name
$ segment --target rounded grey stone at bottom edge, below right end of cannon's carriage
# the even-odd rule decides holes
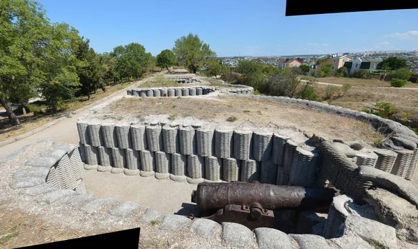
[[[279,230],[267,227],[258,227],[253,230],[256,234],[256,241],[259,249],[292,249],[291,238]]]

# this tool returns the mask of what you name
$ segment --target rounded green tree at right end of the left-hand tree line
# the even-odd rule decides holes
[[[145,47],[139,43],[114,48],[111,55],[116,58],[116,72],[120,77],[135,77],[138,79],[150,70],[153,56],[146,53]]]

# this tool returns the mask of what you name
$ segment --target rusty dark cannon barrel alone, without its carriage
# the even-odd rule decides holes
[[[217,211],[229,204],[261,204],[264,209],[328,209],[334,198],[332,188],[304,188],[247,182],[198,184],[192,202],[201,211]]]

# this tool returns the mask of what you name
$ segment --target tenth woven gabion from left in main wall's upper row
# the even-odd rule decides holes
[[[233,129],[229,127],[215,129],[215,155],[220,158],[233,157]]]

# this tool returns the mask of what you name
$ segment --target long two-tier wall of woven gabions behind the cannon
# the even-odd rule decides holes
[[[315,182],[318,154],[272,132],[82,121],[77,127],[88,164],[212,181],[295,186]]]

